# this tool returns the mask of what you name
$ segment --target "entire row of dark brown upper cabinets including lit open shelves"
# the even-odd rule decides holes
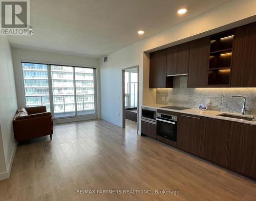
[[[256,22],[150,54],[150,88],[256,87]]]

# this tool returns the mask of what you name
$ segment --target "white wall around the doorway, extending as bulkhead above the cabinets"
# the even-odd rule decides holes
[[[255,0],[231,1],[180,25],[116,51],[108,55],[107,62],[103,62],[103,58],[101,58],[99,65],[102,119],[119,126],[122,123],[121,69],[123,68],[139,65],[139,106],[142,105],[142,102],[144,104],[156,103],[156,90],[148,88],[148,54],[143,52],[157,50],[159,47],[162,49],[174,46],[182,42],[247,24],[255,21],[255,15]]]

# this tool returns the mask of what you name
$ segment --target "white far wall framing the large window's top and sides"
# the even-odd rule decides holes
[[[12,48],[12,60],[14,75],[16,81],[16,94],[17,94],[17,103],[18,107],[25,106],[24,98],[24,86],[23,86],[23,77],[22,77],[22,65],[21,61],[27,62],[41,62],[41,63],[50,63],[50,64],[62,64],[62,65],[75,65],[75,66],[87,66],[98,68],[99,60],[94,58],[87,58],[81,56],[72,56],[64,54],[56,54],[50,52],[41,52],[35,50],[19,49]],[[97,85],[99,85],[99,72],[97,69]],[[98,100],[100,100],[100,91],[97,91]],[[100,104],[98,104],[98,117],[100,117]]]

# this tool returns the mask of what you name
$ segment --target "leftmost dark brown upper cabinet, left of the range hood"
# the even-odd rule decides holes
[[[150,53],[150,88],[173,87],[173,78],[166,77],[166,49]]]

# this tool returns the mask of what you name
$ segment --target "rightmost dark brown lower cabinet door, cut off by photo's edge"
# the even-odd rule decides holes
[[[256,179],[256,126],[232,123],[227,165]]]

